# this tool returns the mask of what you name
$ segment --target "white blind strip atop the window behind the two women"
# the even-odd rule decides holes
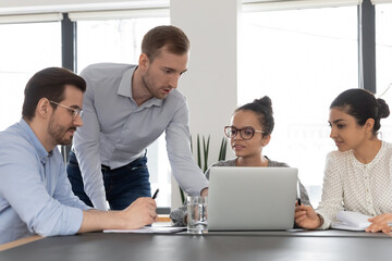
[[[390,0],[392,1],[392,0]],[[243,0],[244,12],[358,5],[362,0]]]

